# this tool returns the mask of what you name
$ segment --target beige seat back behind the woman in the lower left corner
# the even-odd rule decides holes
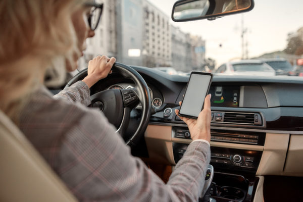
[[[0,111],[0,201],[77,201]]]

